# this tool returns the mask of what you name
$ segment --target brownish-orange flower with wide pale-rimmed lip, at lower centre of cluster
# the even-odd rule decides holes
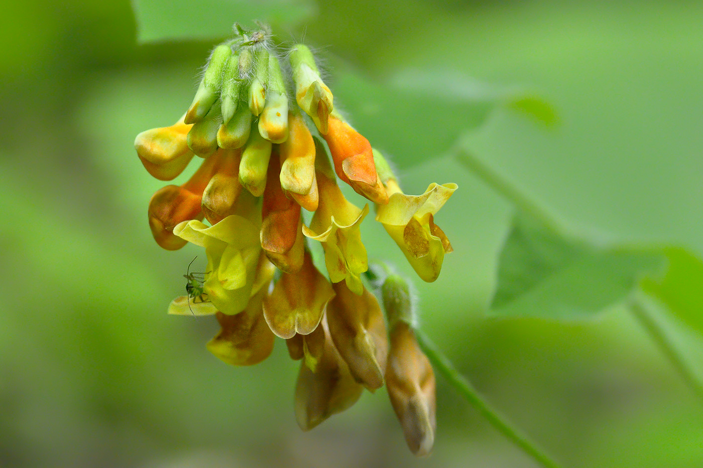
[[[264,318],[276,336],[290,339],[313,332],[335,292],[315,268],[309,252],[297,273],[283,273],[264,299]]]

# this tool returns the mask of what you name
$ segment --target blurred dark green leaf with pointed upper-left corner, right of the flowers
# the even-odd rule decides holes
[[[516,214],[498,264],[494,316],[591,318],[657,271],[656,249],[596,247]]]

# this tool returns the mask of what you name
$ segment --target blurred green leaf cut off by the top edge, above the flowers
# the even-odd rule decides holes
[[[235,22],[292,25],[316,11],[311,0],[133,0],[132,6],[141,43],[217,39],[231,34]]]

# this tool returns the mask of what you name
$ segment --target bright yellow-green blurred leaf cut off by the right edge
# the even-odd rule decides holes
[[[643,290],[669,307],[683,323],[703,334],[703,261],[681,247],[662,249],[666,257],[666,274],[662,278],[644,278]]]

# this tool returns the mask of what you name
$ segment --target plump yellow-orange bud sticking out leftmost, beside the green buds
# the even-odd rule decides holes
[[[170,181],[193,159],[186,134],[190,125],[181,119],[172,126],[141,132],[134,139],[136,153],[146,170],[160,181]]]

